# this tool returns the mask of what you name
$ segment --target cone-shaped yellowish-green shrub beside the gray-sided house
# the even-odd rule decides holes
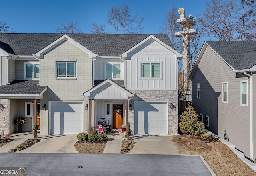
[[[188,103],[186,111],[182,112],[180,118],[180,131],[185,135],[197,136],[204,133],[204,123],[198,120],[198,114],[194,111],[192,103]]]

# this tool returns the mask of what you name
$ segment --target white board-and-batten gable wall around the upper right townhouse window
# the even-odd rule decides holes
[[[148,41],[126,58],[126,88],[129,90],[176,90],[176,55],[156,41]],[[141,78],[141,62],[160,62],[160,78]]]

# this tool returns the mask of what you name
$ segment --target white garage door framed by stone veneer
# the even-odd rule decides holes
[[[134,134],[168,134],[167,102],[134,102]]]

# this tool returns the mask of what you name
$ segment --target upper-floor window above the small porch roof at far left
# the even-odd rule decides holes
[[[24,78],[39,79],[39,62],[24,62]]]

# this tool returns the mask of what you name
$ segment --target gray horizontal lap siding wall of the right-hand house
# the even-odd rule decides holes
[[[196,113],[209,116],[206,129],[224,138],[250,157],[250,81],[244,74],[232,73],[210,47],[207,47],[192,78],[192,101]],[[241,81],[248,80],[248,106],[240,105]],[[222,102],[222,82],[228,82],[228,102]],[[200,83],[200,99],[197,98]]]

